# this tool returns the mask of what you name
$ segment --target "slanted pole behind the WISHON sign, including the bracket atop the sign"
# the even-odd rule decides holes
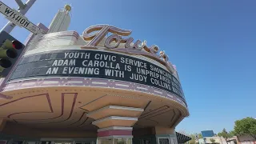
[[[33,4],[34,4],[35,1],[36,1],[36,0],[28,0],[25,5],[24,5],[24,4],[22,5],[21,0],[16,0],[16,2],[18,3],[18,6],[20,6],[18,12],[20,12],[20,13],[23,14],[23,15],[25,15],[26,12],[27,12],[28,10],[30,10],[30,7],[33,6]],[[14,25],[14,23],[8,22],[8,23],[6,24],[6,26],[4,26],[4,27],[2,28],[1,31],[6,31],[6,33],[10,34],[10,32],[11,32],[12,30],[14,30],[14,27],[15,27],[15,26],[16,26],[16,25]]]

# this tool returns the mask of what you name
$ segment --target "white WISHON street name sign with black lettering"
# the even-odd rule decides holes
[[[24,27],[26,30],[30,30],[31,33],[38,34],[42,33],[42,30],[30,22],[24,15],[20,14],[17,10],[11,9],[0,1],[0,12],[6,16],[6,18],[13,22],[15,25]]]

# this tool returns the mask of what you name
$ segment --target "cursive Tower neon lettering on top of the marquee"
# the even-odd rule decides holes
[[[95,32],[97,31],[97,32]],[[86,46],[97,46],[99,42],[102,41],[102,38],[106,37],[106,34],[112,33],[109,37],[106,38],[104,46],[107,49],[116,49],[120,45],[120,43],[125,43],[125,50],[138,50],[142,51],[142,53],[150,54],[154,58],[160,58],[162,62],[164,62],[165,66],[171,72],[174,72],[174,66],[169,62],[168,56],[165,54],[165,51],[160,51],[159,56],[157,55],[159,47],[156,45],[146,46],[146,41],[137,40],[134,41],[134,38],[122,38],[122,36],[129,36],[131,34],[131,30],[123,30],[115,26],[110,25],[95,25],[90,26],[86,30],[84,30],[82,36],[86,41],[90,41]],[[114,45],[110,43],[116,42]]]

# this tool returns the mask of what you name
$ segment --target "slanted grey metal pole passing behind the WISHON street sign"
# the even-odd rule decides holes
[[[26,12],[27,12],[28,10],[30,10],[30,7],[34,4],[35,1],[36,1],[36,0],[28,0],[28,1],[26,2],[26,7],[25,7],[24,9],[22,9],[22,10],[18,10],[18,12],[20,12],[20,13],[23,14],[23,15],[25,15]],[[14,27],[15,27],[15,26],[16,26],[16,25],[14,25],[12,22],[8,22],[8,23],[6,24],[6,26],[4,26],[4,27],[2,28],[1,31],[6,31],[6,33],[10,34],[10,32],[11,32],[12,30],[14,30]]]

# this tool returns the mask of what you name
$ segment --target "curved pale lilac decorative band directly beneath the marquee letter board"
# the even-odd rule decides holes
[[[96,83],[95,83],[96,82]],[[98,84],[97,82],[106,82],[106,85]],[[73,78],[73,77],[62,77],[62,78],[37,78],[37,79],[26,79],[16,82],[7,83],[4,87],[4,91],[19,90],[35,87],[49,87],[49,86],[93,86],[102,88],[113,88],[122,90],[135,90],[138,92],[143,92],[146,94],[154,94],[156,96],[167,98],[178,102],[184,107],[186,106],[186,101],[180,98],[178,95],[167,92],[166,90],[160,90],[153,86],[146,86],[142,84],[137,84],[133,82],[116,81],[101,78]],[[141,89],[144,88],[144,89]],[[159,94],[160,91],[162,94]]]

